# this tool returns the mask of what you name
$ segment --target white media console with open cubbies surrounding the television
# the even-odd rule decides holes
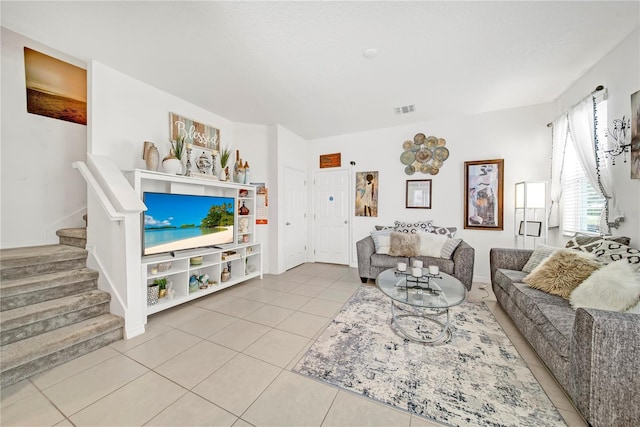
[[[144,293],[142,301],[147,315],[252,278],[262,279],[262,245],[255,241],[255,186],[141,169],[127,173],[127,178],[141,199],[144,192],[223,196],[236,199],[234,243],[221,245],[222,248],[197,248],[141,257],[140,292]],[[243,204],[249,209],[247,215],[239,214]],[[239,229],[241,219],[246,223],[246,229]],[[142,230],[143,226],[141,226],[141,232]],[[230,252],[233,253],[230,254]],[[223,275],[225,268],[230,270],[228,278],[226,274]],[[194,275],[207,275],[210,281],[209,286],[190,287],[189,281]],[[224,281],[223,276],[226,279]],[[154,279],[161,277],[166,277],[171,282],[170,287],[174,292],[160,298],[156,304],[147,305],[147,286],[152,284]]]

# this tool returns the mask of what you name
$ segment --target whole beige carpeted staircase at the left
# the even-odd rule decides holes
[[[86,229],[57,234],[58,245],[0,250],[3,387],[123,336],[124,320],[109,313],[111,295],[86,268]]]

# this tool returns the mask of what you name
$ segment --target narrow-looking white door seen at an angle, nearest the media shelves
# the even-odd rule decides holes
[[[303,171],[284,168],[284,266],[307,260],[307,181]]]

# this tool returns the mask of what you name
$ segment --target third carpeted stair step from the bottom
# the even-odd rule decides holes
[[[97,280],[98,272],[88,268],[2,280],[0,311],[97,289]]]

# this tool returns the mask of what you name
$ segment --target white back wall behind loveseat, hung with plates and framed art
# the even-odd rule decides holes
[[[554,106],[544,104],[318,139],[311,141],[310,164],[318,170],[320,154],[341,152],[343,165],[356,162],[355,172],[379,171],[378,217],[352,218],[353,245],[375,225],[431,219],[437,225],[458,228],[457,236],[476,250],[475,280],[488,281],[489,249],[514,246],[515,183],[549,179],[551,150],[546,124],[554,115]],[[400,163],[402,143],[419,132],[447,141],[450,156],[437,175],[404,173],[404,165]],[[504,159],[505,164],[504,230],[465,230],[464,162],[490,159]],[[408,179],[432,180],[431,209],[405,208]]]

